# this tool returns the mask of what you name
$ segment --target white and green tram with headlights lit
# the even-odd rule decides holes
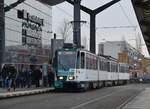
[[[78,48],[57,50],[54,66],[55,89],[87,90],[129,80],[128,64]]]

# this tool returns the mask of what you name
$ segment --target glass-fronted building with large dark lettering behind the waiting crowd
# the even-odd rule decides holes
[[[5,0],[5,7],[17,0]],[[5,13],[4,64],[48,63],[52,31],[52,8],[26,0]]]

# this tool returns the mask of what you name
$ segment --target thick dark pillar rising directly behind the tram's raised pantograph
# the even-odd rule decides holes
[[[77,47],[81,46],[80,3],[81,0],[74,0],[73,42]]]

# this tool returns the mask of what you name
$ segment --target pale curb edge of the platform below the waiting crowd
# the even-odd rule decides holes
[[[13,97],[48,93],[48,92],[53,91],[53,90],[54,90],[54,88],[45,88],[45,89],[35,89],[35,90],[29,90],[29,91],[0,93],[0,100],[1,99],[7,99],[7,98],[13,98]]]

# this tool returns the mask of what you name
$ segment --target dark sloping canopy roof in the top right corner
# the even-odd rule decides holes
[[[150,54],[150,0],[132,0],[132,4]]]

